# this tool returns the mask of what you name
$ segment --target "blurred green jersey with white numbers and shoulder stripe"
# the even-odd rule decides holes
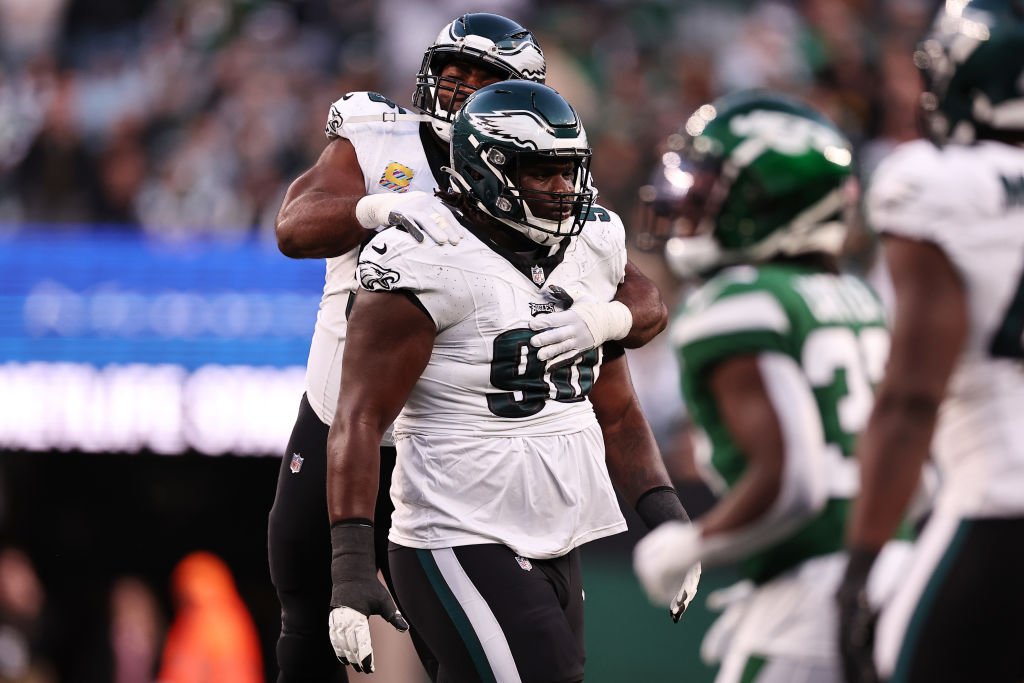
[[[744,354],[779,353],[803,371],[825,440],[829,500],[794,533],[741,562],[761,583],[803,560],[842,547],[849,501],[856,493],[852,460],[889,353],[885,315],[859,279],[792,264],[736,266],[695,292],[672,326],[682,389],[698,427],[697,455],[720,489],[746,468],[709,387],[716,365]]]

